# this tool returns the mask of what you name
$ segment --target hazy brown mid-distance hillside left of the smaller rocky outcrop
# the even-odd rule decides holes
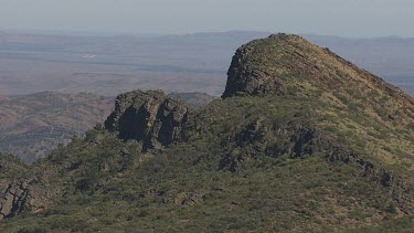
[[[0,151],[33,162],[102,123],[112,103],[112,97],[54,92],[0,99]]]

